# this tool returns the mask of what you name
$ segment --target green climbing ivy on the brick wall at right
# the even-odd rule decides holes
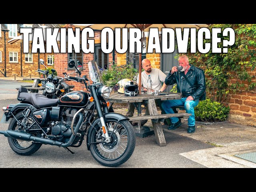
[[[256,24],[212,24],[209,29],[221,28],[223,32],[227,27],[232,27],[236,34],[234,45],[228,46],[228,53],[210,50],[206,54],[189,54],[190,63],[204,69],[207,97],[220,103],[240,90],[256,90],[252,72],[256,66]],[[218,47],[223,48],[222,42],[229,40],[229,36],[219,33],[218,38],[221,38]],[[207,42],[211,43],[211,39],[204,40]]]

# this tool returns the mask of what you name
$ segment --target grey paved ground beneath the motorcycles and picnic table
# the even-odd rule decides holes
[[[0,108],[18,103],[14,90],[18,85],[0,80]],[[127,108],[115,109],[121,114],[126,111]],[[0,118],[2,114],[0,110]],[[154,135],[137,137],[134,153],[120,168],[256,168],[255,163],[234,156],[256,152],[256,128],[229,122],[197,122],[196,132],[188,134],[186,119],[182,122],[176,130],[163,125],[166,146],[158,146]],[[151,122],[146,126],[152,128]],[[0,124],[0,130],[7,128],[8,124]],[[75,154],[44,145],[32,156],[19,156],[0,134],[0,168],[105,168],[92,158],[85,144],[71,150]]]

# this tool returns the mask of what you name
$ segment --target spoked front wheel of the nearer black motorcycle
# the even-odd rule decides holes
[[[135,148],[136,138],[128,120],[106,119],[110,143],[104,142],[102,129],[96,124],[90,134],[90,152],[100,164],[117,167],[126,162]]]

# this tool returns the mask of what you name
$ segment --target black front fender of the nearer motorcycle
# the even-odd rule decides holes
[[[129,119],[128,117],[122,115],[122,114],[119,114],[119,113],[106,113],[103,115],[104,117],[104,120],[124,120],[124,119]],[[98,126],[100,127],[101,124],[100,124],[100,119],[99,118],[96,118],[93,122],[92,122],[92,125],[89,127],[88,129],[88,134],[87,134],[87,138],[86,138],[86,145],[87,145],[87,149],[89,149],[89,146],[90,146],[90,135],[91,135],[91,132],[92,132],[92,129],[98,124]]]

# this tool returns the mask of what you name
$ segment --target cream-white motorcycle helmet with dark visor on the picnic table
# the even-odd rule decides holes
[[[118,93],[124,93],[125,96],[136,96],[139,93],[139,86],[131,79],[122,79],[118,81]]]

